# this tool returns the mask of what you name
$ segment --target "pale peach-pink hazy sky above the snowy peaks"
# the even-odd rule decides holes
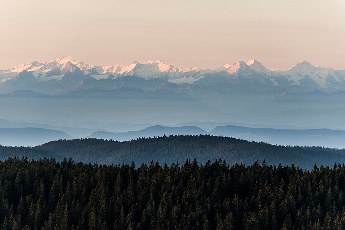
[[[0,69],[55,56],[345,68],[344,0],[0,0]]]

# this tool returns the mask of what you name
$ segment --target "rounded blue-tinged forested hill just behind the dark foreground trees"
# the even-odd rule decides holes
[[[155,159],[161,164],[185,162],[196,158],[206,163],[209,159],[225,159],[229,164],[252,164],[266,160],[268,164],[294,163],[299,167],[311,169],[314,164],[320,166],[345,162],[344,150],[321,147],[284,147],[250,142],[229,137],[210,135],[200,136],[163,136],[141,138],[132,141],[118,142],[102,139],[59,140],[42,144],[34,148],[0,148],[0,158],[9,156],[27,156],[39,159],[43,156],[55,157],[61,161],[64,157],[77,162],[98,164],[149,163]]]

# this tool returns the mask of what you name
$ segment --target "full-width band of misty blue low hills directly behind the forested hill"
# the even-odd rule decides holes
[[[203,124],[194,122],[200,127],[213,128],[212,123]],[[218,123],[219,124],[219,123]],[[221,123],[220,123],[221,124]],[[142,124],[144,125],[144,124]],[[146,124],[147,126],[148,124]],[[38,126],[43,128],[1,128],[1,126]],[[102,128],[100,126],[99,128]],[[114,124],[114,127],[121,128]],[[139,127],[139,126],[138,126]],[[66,132],[52,130],[59,129]],[[112,129],[110,127],[103,127]],[[130,128],[130,127],[127,127]],[[91,133],[92,132],[92,133]],[[91,134],[90,134],[91,133]],[[70,136],[76,134],[77,136]],[[90,134],[90,135],[89,135]],[[331,129],[272,129],[254,128],[242,126],[216,126],[206,131],[197,126],[150,126],[138,131],[109,132],[96,131],[86,128],[70,128],[61,126],[49,126],[27,122],[1,122],[0,121],[0,145],[2,146],[37,146],[45,142],[60,139],[97,138],[115,141],[130,141],[142,137],[162,137],[164,135],[203,135],[233,137],[249,141],[265,142],[284,146],[321,146],[328,148],[345,148],[345,131]]]

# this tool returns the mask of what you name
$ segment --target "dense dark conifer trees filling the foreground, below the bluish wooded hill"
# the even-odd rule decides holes
[[[0,161],[1,229],[344,229],[345,165]]]

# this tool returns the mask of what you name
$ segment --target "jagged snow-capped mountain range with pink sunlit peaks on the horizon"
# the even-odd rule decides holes
[[[345,70],[334,70],[313,66],[307,61],[296,64],[288,70],[266,69],[257,60],[248,62],[239,61],[234,64],[224,64],[222,67],[210,70],[194,68],[177,68],[161,61],[134,62],[129,66],[94,66],[86,62],[77,62],[71,56],[53,58],[46,62],[33,61],[28,64],[15,66],[0,71],[1,88],[21,87],[20,73],[25,76],[30,73],[30,82],[49,82],[49,85],[59,84],[67,78],[73,84],[83,84],[83,79],[114,79],[118,76],[135,76],[145,80],[161,79],[171,83],[188,83],[200,86],[213,86],[226,84],[246,85],[258,84],[270,87],[304,87],[305,90],[318,89],[323,91],[345,90]],[[22,74],[23,75],[23,74]],[[27,77],[25,78],[27,79]],[[81,82],[79,82],[81,81]],[[65,81],[62,81],[65,82]],[[47,83],[48,84],[48,83]],[[7,85],[7,86],[6,86]],[[71,85],[69,85],[71,87]]]

